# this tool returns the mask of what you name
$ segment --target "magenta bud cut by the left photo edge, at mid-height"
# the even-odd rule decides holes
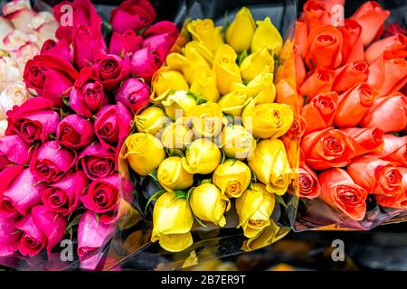
[[[10,164],[30,163],[32,150],[19,135],[6,135],[0,138],[0,170]]]

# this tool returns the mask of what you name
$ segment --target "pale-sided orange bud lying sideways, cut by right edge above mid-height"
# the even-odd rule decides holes
[[[402,131],[407,126],[407,97],[394,92],[387,97],[377,98],[364,115],[360,126],[378,127],[384,133]]]

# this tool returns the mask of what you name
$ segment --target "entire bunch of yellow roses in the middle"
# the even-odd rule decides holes
[[[278,139],[293,111],[274,103],[282,38],[270,18],[255,23],[242,8],[224,33],[211,19],[186,29],[192,40],[153,77],[151,105],[135,117],[124,154],[163,189],[151,240],[172,252],[193,244],[195,219],[226,226],[232,206],[244,236],[260,236],[293,177]]]

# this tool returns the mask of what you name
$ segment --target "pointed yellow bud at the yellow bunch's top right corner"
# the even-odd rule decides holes
[[[270,17],[256,23],[257,29],[251,40],[251,52],[260,51],[263,47],[266,47],[269,51],[279,55],[283,40],[279,30],[271,23]]]

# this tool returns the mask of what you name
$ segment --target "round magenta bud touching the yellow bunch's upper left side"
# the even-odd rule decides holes
[[[147,107],[150,102],[150,89],[139,79],[127,79],[116,91],[116,102],[124,104],[133,114]]]

